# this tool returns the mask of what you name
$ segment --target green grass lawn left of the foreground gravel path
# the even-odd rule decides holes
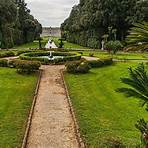
[[[0,68],[0,147],[21,147],[37,76]]]

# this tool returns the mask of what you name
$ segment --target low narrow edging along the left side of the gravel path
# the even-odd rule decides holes
[[[37,101],[37,95],[38,95],[38,90],[39,90],[39,86],[40,86],[40,82],[41,82],[41,77],[42,77],[42,70],[40,69],[35,92],[34,92],[33,102],[32,102],[29,116],[28,116],[28,121],[27,121],[26,130],[25,130],[25,134],[24,134],[21,148],[26,148],[26,145],[27,145],[27,139],[28,139],[29,131],[30,131],[30,127],[31,127],[32,117],[33,117],[33,113],[34,113],[34,107],[35,107],[35,104]]]

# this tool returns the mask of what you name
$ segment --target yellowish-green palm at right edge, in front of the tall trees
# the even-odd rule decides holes
[[[127,36],[129,47],[139,50],[148,49],[148,22],[135,23],[129,33]]]

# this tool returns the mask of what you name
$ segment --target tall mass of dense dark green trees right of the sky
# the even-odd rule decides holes
[[[124,40],[134,22],[147,21],[146,0],[80,0],[61,25],[62,37],[83,46],[98,48],[102,36],[112,27]]]

